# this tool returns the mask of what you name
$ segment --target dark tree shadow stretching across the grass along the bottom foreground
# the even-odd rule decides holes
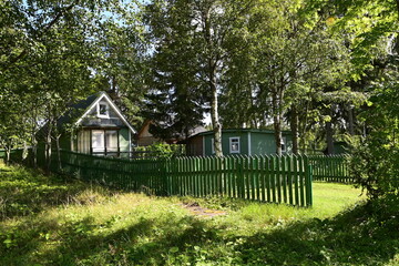
[[[29,227],[52,227],[57,243],[45,243],[43,234],[32,232],[16,246],[2,249],[0,264],[195,265],[200,257],[219,264],[222,258],[214,249],[222,245],[235,265],[383,265],[399,250],[399,222],[397,213],[378,213],[377,205],[358,206],[332,219],[298,222],[249,237],[226,237],[207,221],[191,216],[163,221],[143,216],[108,234],[92,234],[99,228],[93,217],[63,225],[45,221]],[[238,245],[227,244],[237,239]]]

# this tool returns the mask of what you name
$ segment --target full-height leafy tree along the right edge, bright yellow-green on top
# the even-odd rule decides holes
[[[352,139],[352,174],[369,196],[397,196],[399,2],[339,1],[336,6],[340,17],[337,29],[345,29],[354,37],[350,42],[356,69],[352,83],[366,80],[370,95],[369,104],[359,110],[366,134]]]

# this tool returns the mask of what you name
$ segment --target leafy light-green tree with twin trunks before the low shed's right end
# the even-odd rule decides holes
[[[231,66],[236,72],[244,70],[236,75],[241,81],[236,84],[244,85],[227,88],[226,92],[238,89],[245,95],[241,105],[231,105],[244,109],[252,126],[268,126],[273,117],[277,154],[282,153],[282,130],[289,113],[287,124],[297,153],[300,110],[319,90],[321,80],[325,84],[339,80],[342,83],[348,52],[344,42],[328,30],[326,17],[308,9],[306,1],[256,3],[248,17],[245,51]]]

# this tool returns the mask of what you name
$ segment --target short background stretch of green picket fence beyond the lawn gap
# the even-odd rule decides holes
[[[309,155],[313,180],[336,183],[352,183],[348,167],[348,155]]]

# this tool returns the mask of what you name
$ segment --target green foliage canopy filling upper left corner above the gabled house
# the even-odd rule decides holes
[[[66,106],[108,90],[102,85],[111,78],[125,88],[124,109],[136,112],[142,86],[132,89],[140,83],[132,79],[140,72],[133,3],[34,0],[1,1],[0,7],[7,10],[0,14],[0,146],[35,146],[39,136],[57,141],[62,130],[57,119]],[[136,117],[130,113],[130,119]]]

